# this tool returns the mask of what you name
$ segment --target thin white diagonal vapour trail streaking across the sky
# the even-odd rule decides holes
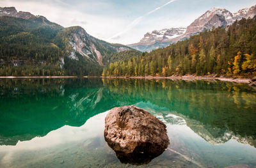
[[[113,40],[113,39],[119,38],[122,34],[126,33],[127,31],[131,30],[134,26],[139,24],[144,17],[147,17],[148,15],[154,13],[157,10],[160,10],[164,6],[166,6],[166,5],[170,4],[170,3],[173,3],[174,1],[176,1],[176,0],[168,1],[168,3],[165,3],[162,6],[159,6],[159,7],[155,8],[154,10],[148,11],[148,13],[145,13],[144,15],[142,15],[140,17],[137,17],[123,31],[120,31],[119,33],[116,33],[114,36],[111,36],[110,38],[108,38],[108,40]]]

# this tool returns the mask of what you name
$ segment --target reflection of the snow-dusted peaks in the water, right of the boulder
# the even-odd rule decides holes
[[[191,82],[191,81],[190,81]],[[189,83],[189,82],[188,82]],[[185,100],[186,101],[186,100]],[[195,134],[202,137],[205,141],[209,142],[210,144],[214,145],[220,145],[225,144],[225,142],[230,141],[230,139],[236,139],[238,142],[242,144],[250,144],[251,146],[256,146],[255,136],[253,135],[246,135],[246,134],[237,134],[236,130],[232,130],[231,127],[226,125],[221,125],[220,123],[207,123],[211,122],[211,120],[207,120],[207,122],[204,122],[204,119],[201,118],[195,118],[195,114],[189,116],[184,115],[182,112],[177,111],[166,111],[166,108],[158,106],[154,103],[150,102],[139,102],[136,105],[139,105],[143,107],[143,109],[150,112],[150,114],[153,114],[158,119],[163,121],[165,124],[169,125],[186,125],[188,126]],[[202,115],[201,111],[197,111]],[[191,114],[191,112],[188,112]],[[204,113],[204,112],[203,112]],[[200,116],[199,115],[199,116]],[[216,115],[216,114],[213,114]],[[208,116],[211,116],[208,114]],[[220,119],[220,116],[211,119]],[[225,122],[225,121],[223,121]],[[235,122],[235,121],[232,121]]]

